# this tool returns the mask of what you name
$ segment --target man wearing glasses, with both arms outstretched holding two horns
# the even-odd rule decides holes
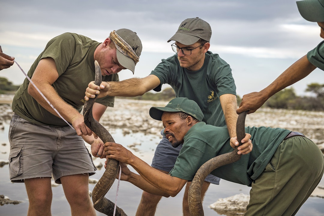
[[[85,99],[95,97],[122,96],[135,97],[143,95],[152,89],[161,91],[162,84],[169,84],[176,97],[187,97],[194,100],[202,109],[203,121],[214,126],[226,126],[230,134],[231,146],[238,145],[236,140],[236,86],[230,66],[218,54],[208,51],[212,30],[210,25],[196,17],[184,20],[175,35],[168,40],[174,40],[172,50],[177,54],[163,59],[150,75],[144,78],[131,78],[120,82],[102,82],[100,86],[93,82],[87,88]],[[182,145],[172,147],[161,131],[163,138],[157,145],[152,161],[152,167],[164,173],[169,173],[179,155]],[[243,142],[252,143],[249,134]],[[216,139],[216,138],[215,138]],[[241,152],[239,152],[241,153]],[[202,188],[202,198],[210,183],[219,184],[219,178],[209,175]],[[183,198],[183,215],[190,215],[188,207],[187,183]],[[143,192],[136,215],[154,215],[161,196]]]

